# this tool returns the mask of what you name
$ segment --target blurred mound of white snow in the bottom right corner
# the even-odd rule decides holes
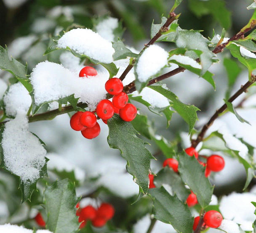
[[[255,207],[251,201],[255,200],[254,193],[231,193],[221,199],[219,209],[225,219],[241,224],[243,230],[252,230]]]

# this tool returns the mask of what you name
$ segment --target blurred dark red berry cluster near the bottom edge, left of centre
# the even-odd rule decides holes
[[[91,205],[80,208],[79,203],[76,207],[78,208],[76,215],[79,216],[78,221],[81,222],[80,229],[85,227],[88,220],[92,222],[94,227],[101,228],[115,214],[114,207],[108,203],[102,203],[98,209],[95,209]]]

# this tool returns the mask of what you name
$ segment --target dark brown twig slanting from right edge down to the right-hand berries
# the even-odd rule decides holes
[[[228,102],[232,103],[239,95],[247,90],[254,82],[256,81],[255,77],[251,78],[251,81],[248,81],[243,85],[234,95],[232,95]],[[213,122],[218,118],[219,114],[224,112],[227,109],[227,104],[223,104],[220,109],[216,110],[211,119],[203,126],[201,132],[198,134],[197,139],[191,141],[191,146],[196,147],[204,138],[206,131],[213,124]]]

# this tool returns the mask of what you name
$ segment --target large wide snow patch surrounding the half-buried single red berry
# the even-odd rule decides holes
[[[30,80],[37,105],[75,94],[80,101],[88,103],[90,109],[95,109],[97,103],[105,98],[108,78],[107,70],[93,77],[81,78],[59,64],[45,61],[33,69]]]

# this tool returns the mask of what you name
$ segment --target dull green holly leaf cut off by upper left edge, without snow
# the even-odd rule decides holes
[[[24,66],[14,58],[9,58],[7,47],[0,46],[0,69],[9,71],[15,77],[26,79],[27,65]]]

